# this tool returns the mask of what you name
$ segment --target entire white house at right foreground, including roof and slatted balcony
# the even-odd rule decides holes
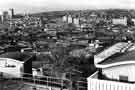
[[[135,90],[135,44],[117,43],[95,55],[97,72],[87,78],[88,90]]]

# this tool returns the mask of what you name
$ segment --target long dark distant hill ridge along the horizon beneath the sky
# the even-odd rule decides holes
[[[135,17],[135,10],[133,9],[97,9],[97,10],[65,10],[65,11],[49,11],[49,12],[41,12],[41,13],[34,13],[31,16],[44,16],[47,18],[56,18],[61,17],[66,14],[80,14],[81,16],[88,16],[91,13],[96,13],[98,15],[105,14],[112,17],[120,17],[120,16],[132,16]]]

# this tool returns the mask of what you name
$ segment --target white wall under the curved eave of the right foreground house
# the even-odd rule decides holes
[[[135,65],[120,65],[102,69],[102,73],[110,79],[119,80],[119,76],[128,76],[128,81],[135,82]]]

